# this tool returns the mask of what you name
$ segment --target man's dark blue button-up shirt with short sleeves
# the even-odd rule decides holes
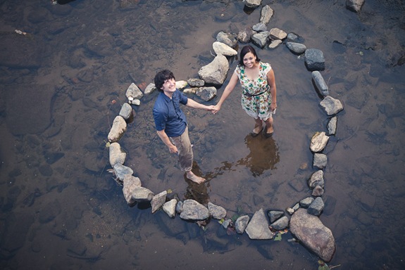
[[[156,130],[165,130],[169,137],[183,134],[187,127],[187,119],[180,109],[180,103],[187,104],[187,96],[178,89],[170,99],[163,92],[158,95],[154,105],[154,120]]]

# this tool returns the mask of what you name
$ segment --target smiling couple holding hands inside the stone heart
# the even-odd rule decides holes
[[[203,105],[187,98],[176,89],[175,77],[169,70],[162,70],[155,76],[156,88],[161,91],[153,110],[158,136],[170,153],[177,153],[180,169],[186,172],[187,179],[197,184],[205,179],[192,172],[192,145],[180,103],[190,108],[210,110],[215,115],[238,81],[242,86],[242,108],[255,121],[251,136],[258,136],[264,130],[264,136],[269,138],[273,135],[273,114],[277,108],[275,77],[270,64],[261,62],[252,46],[242,48],[239,64],[216,105]]]

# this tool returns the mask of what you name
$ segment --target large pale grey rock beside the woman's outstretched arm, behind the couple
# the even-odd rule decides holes
[[[206,84],[222,85],[228,75],[228,59],[222,54],[218,54],[211,63],[204,65],[199,70],[199,77]]]

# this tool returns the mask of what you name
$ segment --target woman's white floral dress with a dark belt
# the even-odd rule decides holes
[[[258,63],[259,75],[256,79],[249,79],[244,72],[244,66],[237,65],[235,72],[242,86],[242,108],[248,115],[263,121],[271,117],[271,94],[267,82],[267,73],[271,70],[268,63]]]

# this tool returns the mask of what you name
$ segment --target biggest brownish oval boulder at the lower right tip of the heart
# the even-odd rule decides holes
[[[318,217],[299,209],[289,221],[289,230],[320,259],[330,262],[335,254],[335,238]]]

